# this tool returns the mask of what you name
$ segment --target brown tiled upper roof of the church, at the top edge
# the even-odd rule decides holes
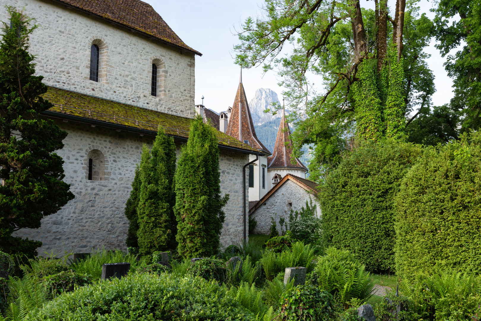
[[[202,55],[182,41],[148,3],[139,0],[55,0],[103,19],[146,33],[174,46]]]

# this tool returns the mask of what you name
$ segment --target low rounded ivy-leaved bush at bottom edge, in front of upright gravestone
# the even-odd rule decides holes
[[[334,300],[326,291],[311,284],[298,285],[281,297],[280,320],[324,321],[335,318]]]

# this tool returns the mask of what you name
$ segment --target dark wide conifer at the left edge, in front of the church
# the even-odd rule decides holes
[[[47,86],[34,76],[35,56],[28,53],[37,25],[6,8],[11,21],[3,22],[0,41],[0,250],[34,256],[42,243],[13,237],[13,231],[38,229],[74,194],[62,181],[62,158],[53,153],[63,148],[67,132],[39,115],[52,104],[40,97]]]

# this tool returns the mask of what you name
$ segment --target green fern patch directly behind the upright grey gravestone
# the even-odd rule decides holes
[[[267,280],[272,281],[278,273],[284,272],[286,268],[302,266],[307,268],[307,271],[312,270],[313,259],[314,248],[310,244],[304,245],[302,242],[296,242],[288,251],[278,254],[266,251],[261,262]]]

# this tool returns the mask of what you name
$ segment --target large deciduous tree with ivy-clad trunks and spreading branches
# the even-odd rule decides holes
[[[364,10],[359,0],[266,0],[265,14],[238,34],[236,62],[276,68],[291,120],[305,119],[292,136],[294,155],[312,144],[313,179],[339,163],[352,135],[404,140],[415,118],[406,116],[430,105],[434,77],[423,48],[432,22],[411,2],[406,10],[397,0],[392,16],[386,0],[374,2]]]

